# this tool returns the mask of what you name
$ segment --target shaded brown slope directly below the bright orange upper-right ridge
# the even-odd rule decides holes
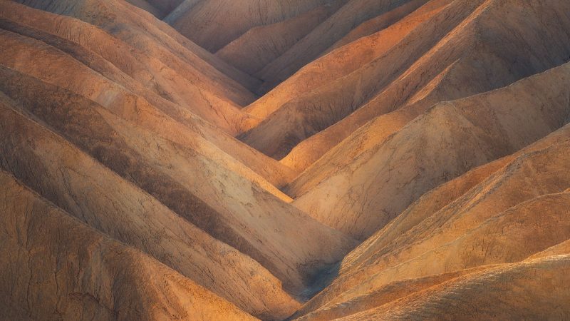
[[[411,31],[406,25],[405,31],[409,34],[391,35],[394,42],[391,46],[383,47],[379,53],[373,51],[373,56],[370,56],[367,51],[364,51],[363,58],[366,63],[358,66],[359,58],[356,58],[358,66],[356,70],[350,71],[353,63],[348,63],[348,73],[341,69],[342,76],[331,79],[324,86],[318,86],[301,96],[294,96],[294,98],[289,96],[283,105],[277,104],[279,108],[276,111],[240,138],[268,156],[276,159],[284,158],[301,141],[341,121],[383,88],[397,80],[416,60],[442,41],[462,21],[465,21],[483,1],[469,1],[469,4],[460,2],[466,1],[452,1],[449,6],[426,13],[424,16],[429,19],[423,16],[418,20],[420,24],[411,25],[413,26]],[[430,26],[430,28],[420,28],[420,26]],[[389,33],[389,31],[385,32]],[[457,40],[465,42],[462,38]],[[358,45],[357,42],[348,46]],[[454,47],[457,47],[457,44]],[[343,49],[338,49],[338,51],[343,51]],[[356,54],[356,57],[361,56],[360,51],[352,52]],[[442,52],[449,55],[447,51]],[[454,52],[461,54],[458,48]],[[336,56],[334,54],[333,52],[328,56]],[[323,59],[333,62],[328,56]],[[352,59],[353,55],[340,56],[340,58],[341,60]],[[368,60],[369,58],[372,60]],[[415,68],[415,70],[424,73],[433,72],[437,66],[442,66],[444,63],[445,61],[438,61],[435,66],[427,65],[427,70],[423,68],[419,70]],[[323,69],[327,70],[327,68]],[[338,70],[338,67],[333,70]],[[425,78],[427,77],[420,79]]]

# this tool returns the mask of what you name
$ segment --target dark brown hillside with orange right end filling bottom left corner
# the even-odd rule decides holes
[[[1,292],[3,320],[46,315],[253,320],[175,270],[89,228],[3,171],[0,195],[0,248],[10,258],[0,263],[0,286],[11,289]],[[16,270],[21,273],[12,278]]]

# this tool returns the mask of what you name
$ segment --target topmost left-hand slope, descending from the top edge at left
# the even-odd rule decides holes
[[[195,69],[197,73],[206,73],[210,78],[209,81],[214,78],[222,82],[217,90],[231,93],[232,98],[238,103],[248,103],[254,99],[252,93],[244,87],[257,88],[259,81],[229,66],[178,34],[167,24],[125,1],[18,0],[16,2],[54,14],[71,16],[97,26],[115,38],[147,51],[166,64],[176,63],[173,65],[176,67],[175,70],[180,65],[187,64],[185,68]],[[180,60],[185,63],[180,63]]]

